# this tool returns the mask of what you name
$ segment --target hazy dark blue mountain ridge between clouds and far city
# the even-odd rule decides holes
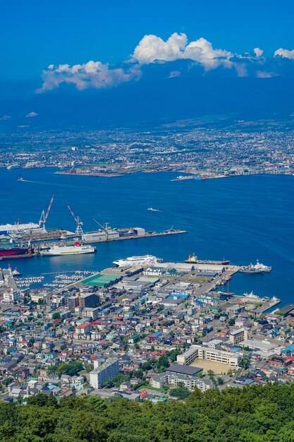
[[[31,112],[37,116],[26,117]],[[92,95],[47,93],[0,100],[0,128],[158,126],[179,119],[236,114],[239,119],[288,118],[292,78],[168,78],[124,84]]]

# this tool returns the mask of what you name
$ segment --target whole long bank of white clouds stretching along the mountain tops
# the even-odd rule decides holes
[[[278,58],[277,58],[278,57]],[[50,64],[42,73],[42,86],[36,92],[72,84],[78,90],[113,88],[121,83],[175,76],[294,76],[294,49],[277,49],[267,59],[259,47],[252,52],[236,54],[215,48],[203,37],[188,41],[185,33],[173,32],[167,40],[157,35],[145,35],[128,60],[116,66],[100,61],[83,64]],[[289,66],[293,64],[293,66]],[[34,115],[27,115],[27,117]]]

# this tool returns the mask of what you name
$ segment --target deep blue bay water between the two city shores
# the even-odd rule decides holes
[[[17,181],[19,173],[25,181]],[[97,229],[92,220],[111,227],[175,227],[186,234],[97,244],[84,256],[35,257],[2,261],[18,266],[24,277],[65,270],[102,270],[118,258],[151,253],[165,261],[229,259],[248,264],[258,258],[273,270],[264,275],[235,275],[229,290],[294,301],[294,177],[263,175],[171,181],[176,173],[128,174],[124,177],[78,177],[54,169],[0,169],[0,224],[38,222],[52,193],[48,228],[75,229],[66,208],[71,205],[84,231]],[[148,211],[152,207],[161,212]]]

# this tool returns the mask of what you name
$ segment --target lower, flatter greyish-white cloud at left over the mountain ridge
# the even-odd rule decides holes
[[[111,88],[126,81],[140,78],[138,66],[131,66],[128,71],[123,68],[110,68],[109,64],[100,61],[88,61],[84,64],[50,64],[42,73],[43,84],[37,92],[59,88],[61,83],[71,83],[78,90],[87,88]]]

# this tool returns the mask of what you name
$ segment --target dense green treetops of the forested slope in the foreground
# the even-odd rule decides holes
[[[195,391],[185,403],[37,395],[0,405],[1,442],[292,442],[294,385]]]

